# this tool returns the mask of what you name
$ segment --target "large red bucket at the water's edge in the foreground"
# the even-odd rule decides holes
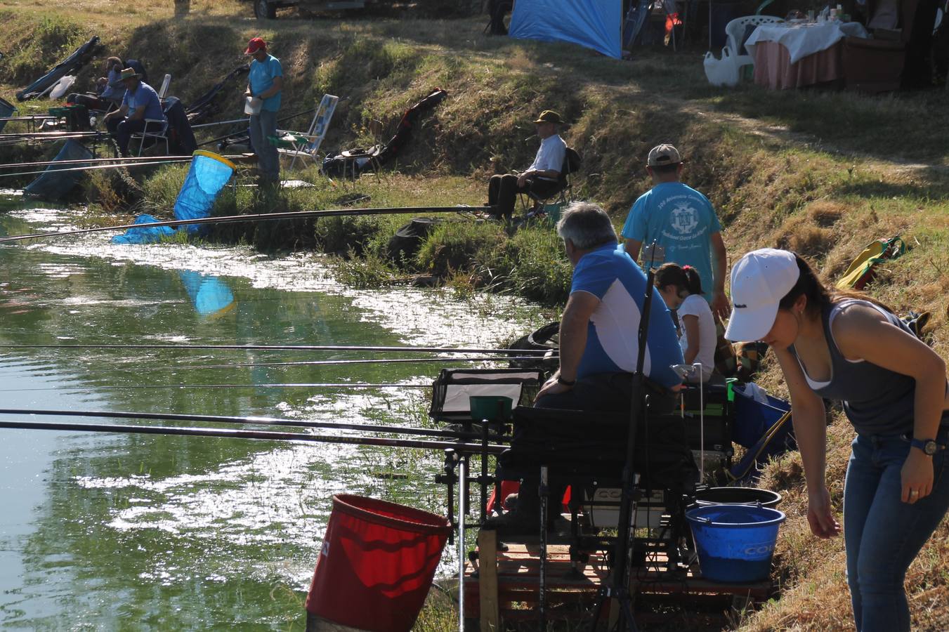
[[[428,511],[333,496],[307,611],[371,632],[408,632],[451,530],[447,518]]]

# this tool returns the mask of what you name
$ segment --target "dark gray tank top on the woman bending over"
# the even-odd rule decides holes
[[[913,429],[913,408],[916,395],[916,380],[885,369],[879,364],[865,360],[850,361],[837,348],[830,331],[830,324],[843,307],[859,304],[880,311],[891,324],[914,335],[909,326],[895,314],[869,301],[847,299],[825,307],[821,314],[824,335],[830,351],[830,381],[813,381],[797,357],[791,345],[789,350],[801,366],[805,378],[814,393],[828,400],[842,400],[844,412],[853,427],[861,435],[892,435]],[[942,424],[949,422],[949,414],[943,413]]]

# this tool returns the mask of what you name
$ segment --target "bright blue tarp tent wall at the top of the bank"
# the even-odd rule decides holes
[[[508,35],[572,42],[619,59],[623,3],[619,0],[517,0]]]

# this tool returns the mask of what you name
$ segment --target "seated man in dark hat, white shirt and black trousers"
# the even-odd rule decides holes
[[[493,206],[495,217],[511,219],[517,194],[528,191],[546,197],[560,188],[560,170],[564,166],[567,143],[557,134],[557,126],[564,121],[552,110],[541,112],[534,124],[541,138],[540,149],[527,171],[522,174],[492,176],[488,181],[488,206]]]

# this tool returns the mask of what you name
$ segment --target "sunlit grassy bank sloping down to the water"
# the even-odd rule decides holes
[[[701,51],[643,50],[620,62],[574,46],[487,38],[481,18],[256,23],[248,5],[229,1],[194,2],[183,20],[171,18],[170,2],[53,7],[48,0],[0,1],[0,19],[9,25],[9,54],[0,61],[4,97],[93,33],[109,54],[138,56],[158,76],[172,73],[172,92],[185,102],[241,63],[247,39],[260,34],[284,62],[288,111],[312,107],[325,92],[347,98],[324,145],[330,150],[371,143],[365,130],[373,119],[383,122],[387,138],[407,106],[436,86],[449,91],[378,180],[330,184],[310,170],[297,177],[312,189],[263,197],[238,188],[222,196],[219,213],[339,208],[356,195],[369,196],[355,205],[363,207],[480,204],[494,170],[530,163],[532,115],[550,107],[571,121],[564,136],[585,158],[577,195],[603,204],[618,225],[648,187],[640,166],[648,148],[672,142],[689,158],[686,181],[716,205],[733,260],[761,246],[788,247],[832,281],[868,242],[902,234],[912,250],[883,266],[869,291],[899,313],[932,312],[927,330],[949,358],[949,128],[936,114],[949,99],[942,91],[878,98],[754,86],[721,91],[705,82]],[[234,99],[219,118],[238,113]],[[115,212],[127,212],[132,201],[168,214],[183,175],[166,168],[140,177],[140,194],[128,198],[120,183],[97,185],[116,195],[95,201]],[[483,222],[445,222],[414,257],[392,260],[389,238],[406,220],[334,219],[217,237],[337,253],[341,274],[356,285],[434,275],[459,292],[494,288],[563,303],[568,264],[549,228],[508,234]],[[786,395],[775,366],[766,365],[762,381]],[[828,480],[840,511],[852,431],[839,410],[832,417]],[[846,629],[843,543],[809,535],[799,455],[772,463],[764,480],[785,494],[789,515],[775,569],[782,597],[740,627]],[[949,627],[947,536],[943,524],[910,572],[919,629]]]

